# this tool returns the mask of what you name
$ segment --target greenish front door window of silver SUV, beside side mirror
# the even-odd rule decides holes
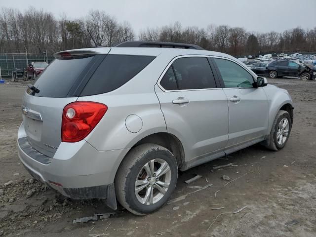
[[[224,80],[225,87],[252,87],[253,78],[250,73],[237,63],[226,59],[214,58]]]

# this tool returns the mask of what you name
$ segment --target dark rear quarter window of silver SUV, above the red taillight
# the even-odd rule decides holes
[[[80,96],[102,94],[117,89],[135,77],[154,58],[139,55],[107,55]]]

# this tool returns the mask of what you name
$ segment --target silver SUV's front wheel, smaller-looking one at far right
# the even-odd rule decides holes
[[[292,129],[292,121],[289,113],[280,110],[273,122],[270,132],[269,145],[266,147],[273,151],[279,151],[284,148]]]

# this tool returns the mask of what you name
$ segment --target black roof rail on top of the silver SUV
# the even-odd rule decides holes
[[[158,47],[158,48],[186,48],[204,50],[201,46],[189,43],[170,43],[159,41],[124,41],[113,47]]]

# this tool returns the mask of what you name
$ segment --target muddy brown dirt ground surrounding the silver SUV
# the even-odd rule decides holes
[[[16,149],[26,84],[0,85],[0,236],[315,237],[316,81],[269,82],[288,89],[295,102],[292,133],[282,151],[255,145],[182,172],[172,198],[196,190],[189,186],[213,185],[152,215],[137,217],[120,208],[108,219],[77,224],[73,219],[111,209],[100,200],[65,199],[31,179]],[[213,169],[227,163],[234,166]],[[203,177],[184,183],[195,174]],[[227,184],[223,175],[236,180]],[[13,183],[4,187],[8,181]],[[225,208],[212,210],[217,207]]]

